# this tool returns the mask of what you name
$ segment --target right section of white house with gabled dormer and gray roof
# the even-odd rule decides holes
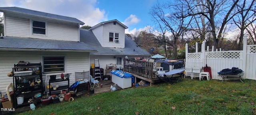
[[[89,30],[81,29],[81,42],[90,40],[90,43],[86,44],[98,50],[98,52],[90,52],[90,64],[94,63],[94,59],[99,59],[100,67],[106,70],[106,65],[111,63],[116,64],[117,68],[123,67],[123,59],[126,56],[148,59],[151,54],[138,47],[125,35],[127,28],[118,20],[110,20],[101,22]]]

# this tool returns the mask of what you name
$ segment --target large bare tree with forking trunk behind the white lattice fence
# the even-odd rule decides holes
[[[226,24],[236,15],[235,6],[239,0],[178,0],[179,7],[184,8],[182,12],[186,15],[180,18],[191,16],[204,16],[210,23],[212,39],[215,48],[219,48],[219,41],[223,39],[223,32]],[[184,7],[185,6],[185,7]],[[203,7],[205,9],[198,9]]]

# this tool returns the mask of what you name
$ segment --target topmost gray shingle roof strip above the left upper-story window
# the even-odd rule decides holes
[[[38,17],[44,17],[44,18],[49,18],[49,19],[55,19],[55,20],[62,20],[62,21],[67,21],[67,22],[73,22],[73,23],[79,23],[80,25],[84,25],[84,22],[68,17],[68,16],[60,16],[56,14],[50,14],[46,12],[39,12],[35,10],[29,10],[25,8],[19,8],[19,7],[0,7],[0,12],[13,12],[13,13],[18,13],[18,14],[27,14],[27,15],[32,15],[32,16],[38,16]]]

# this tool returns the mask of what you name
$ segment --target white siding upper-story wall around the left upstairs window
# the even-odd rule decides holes
[[[49,40],[67,40],[67,41],[78,41],[79,31],[78,25],[76,24],[62,24],[46,21],[47,34],[45,35],[34,35],[32,34],[32,26],[30,24],[31,18],[17,17],[5,14],[5,36],[25,37],[25,38],[40,38]],[[36,21],[44,20],[33,18]]]

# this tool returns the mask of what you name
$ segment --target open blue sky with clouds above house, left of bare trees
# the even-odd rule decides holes
[[[1,0],[0,7],[21,7],[77,18],[85,25],[114,20],[122,22],[126,33],[154,26],[148,14],[157,0]],[[163,0],[161,0],[163,1]]]

